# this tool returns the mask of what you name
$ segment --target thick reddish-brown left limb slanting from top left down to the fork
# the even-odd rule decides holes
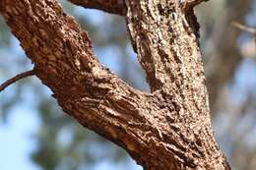
[[[35,64],[36,76],[51,88],[62,109],[134,157],[143,157],[146,131],[149,136],[157,132],[149,121],[152,95],[131,88],[102,67],[87,32],[57,1],[1,2],[7,24]],[[142,158],[137,161],[143,164]]]

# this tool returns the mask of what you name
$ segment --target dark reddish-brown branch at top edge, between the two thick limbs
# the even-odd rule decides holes
[[[111,14],[124,16],[126,8],[123,0],[69,0],[73,4],[80,5],[85,8],[98,9]]]

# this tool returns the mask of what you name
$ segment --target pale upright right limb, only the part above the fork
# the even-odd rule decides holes
[[[145,4],[141,5],[139,2]],[[175,3],[160,2],[158,8],[153,8],[153,4],[153,2],[151,4],[145,0],[126,1],[127,22],[133,46],[138,52],[139,60],[146,71],[152,91],[158,90],[162,86],[166,87],[166,85],[171,85],[168,86],[169,90],[173,90],[184,84],[185,79],[191,79],[190,81],[194,85],[200,85],[195,88],[203,89],[204,72],[198,48],[196,17],[191,13],[191,9],[186,9],[188,11],[183,11],[181,8],[175,9],[177,5]],[[151,15],[143,16],[142,11],[146,15],[148,13]],[[154,18],[155,23],[151,21],[151,18]],[[194,48],[197,50],[189,50]],[[191,68],[195,69],[192,71]],[[177,72],[180,75],[177,75]],[[174,82],[177,85],[173,85]]]

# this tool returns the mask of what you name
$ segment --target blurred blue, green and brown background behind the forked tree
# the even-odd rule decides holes
[[[149,91],[124,18],[60,1],[89,31],[98,59],[121,79]],[[256,169],[256,0],[212,0],[197,8],[212,121],[231,167]],[[32,69],[0,17],[0,84]],[[63,113],[35,77],[0,93],[1,170],[142,170],[120,147]]]

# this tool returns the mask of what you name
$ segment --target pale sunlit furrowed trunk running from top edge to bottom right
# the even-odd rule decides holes
[[[133,46],[147,73],[152,91],[162,100],[160,104],[162,112],[156,115],[158,120],[161,120],[158,128],[160,132],[164,132],[166,127],[171,125],[178,127],[177,129],[169,128],[167,135],[163,135],[166,137],[165,140],[175,139],[174,141],[178,142],[171,143],[169,146],[169,142],[163,140],[163,145],[166,146],[165,151],[179,150],[179,155],[192,153],[191,160],[185,161],[181,158],[182,156],[179,157],[187,163],[189,168],[196,167],[193,167],[195,165],[193,157],[198,156],[204,157],[198,160],[199,164],[202,163],[199,165],[200,168],[228,169],[224,156],[213,137],[197,37],[199,26],[193,13],[193,6],[190,8],[184,3],[178,4],[176,1],[164,3],[160,0],[126,0],[125,2]],[[192,1],[190,3],[193,4]],[[171,121],[167,121],[169,117]],[[187,125],[187,127],[181,125]],[[201,154],[202,150],[198,150],[199,152],[193,150],[193,147],[199,146],[197,140],[200,141],[202,148],[208,149],[207,154]],[[186,149],[182,151],[182,146],[186,148],[186,142],[191,143],[187,148],[189,151]],[[193,151],[197,152],[194,156]],[[161,155],[164,155],[163,152]],[[156,161],[153,160],[151,163],[148,169],[158,169],[154,165]],[[160,164],[158,164],[159,167]]]

